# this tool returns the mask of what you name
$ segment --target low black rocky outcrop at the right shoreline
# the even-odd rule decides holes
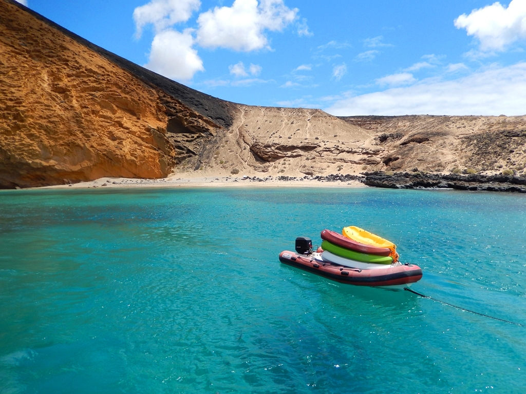
[[[385,172],[365,173],[362,182],[368,186],[389,189],[427,189],[448,188],[470,191],[519,192],[526,193],[526,177],[512,175],[480,174],[422,174],[396,172],[388,175]]]

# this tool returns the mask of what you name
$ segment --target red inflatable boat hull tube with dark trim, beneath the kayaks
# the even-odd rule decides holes
[[[356,286],[400,286],[418,282],[422,270],[418,265],[406,264],[385,269],[357,269],[339,264],[316,260],[309,255],[283,251],[279,254],[281,263],[291,265],[333,281]]]

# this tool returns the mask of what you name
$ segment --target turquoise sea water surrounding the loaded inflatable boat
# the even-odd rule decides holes
[[[526,324],[526,196],[0,193],[0,393],[524,392],[526,327],[278,261],[356,224],[413,289]]]

